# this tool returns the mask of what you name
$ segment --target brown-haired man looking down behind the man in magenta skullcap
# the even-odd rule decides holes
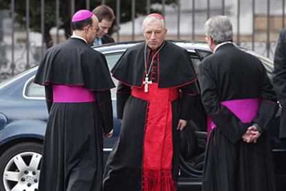
[[[99,21],[99,32],[97,33],[97,37],[95,37],[93,45],[97,46],[104,43],[114,43],[114,39],[108,35],[108,30],[111,28],[115,18],[113,10],[106,5],[101,5],[93,10],[93,14],[95,14]]]

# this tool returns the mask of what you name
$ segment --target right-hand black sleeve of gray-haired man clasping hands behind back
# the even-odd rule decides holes
[[[270,123],[271,119],[275,117],[275,114],[278,110],[278,104],[276,101],[276,94],[273,90],[271,82],[267,76],[264,66],[261,64],[261,88],[260,88],[260,97],[261,103],[258,110],[258,114],[254,118],[253,122],[259,125],[259,128],[262,128],[260,132],[267,130],[267,126]]]

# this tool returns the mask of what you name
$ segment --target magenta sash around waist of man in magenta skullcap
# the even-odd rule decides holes
[[[53,85],[53,101],[61,103],[77,103],[95,101],[93,92],[83,86]]]

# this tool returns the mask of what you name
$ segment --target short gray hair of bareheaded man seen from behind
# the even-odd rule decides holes
[[[204,23],[204,30],[215,44],[233,41],[232,24],[229,17],[220,15],[209,18]]]

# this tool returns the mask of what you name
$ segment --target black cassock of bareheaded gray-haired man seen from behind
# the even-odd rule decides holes
[[[278,107],[263,64],[227,43],[200,64],[200,86],[204,108],[216,124],[209,134],[202,190],[276,190],[267,125]],[[240,99],[260,100],[251,123],[242,123],[221,104]],[[252,123],[263,133],[257,143],[245,143],[242,135]]]

